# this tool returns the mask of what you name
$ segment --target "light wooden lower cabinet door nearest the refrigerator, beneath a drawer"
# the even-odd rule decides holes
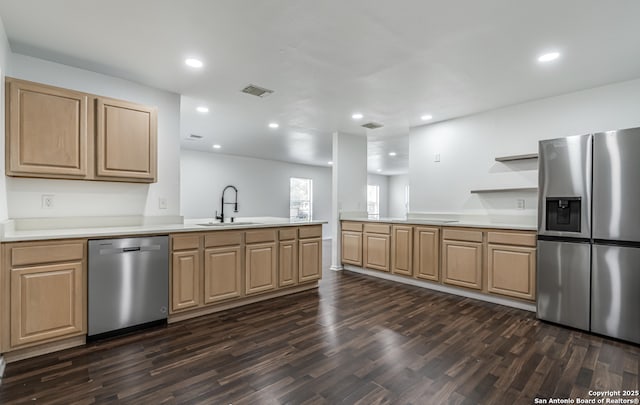
[[[535,299],[535,248],[489,244],[487,252],[489,292]]]

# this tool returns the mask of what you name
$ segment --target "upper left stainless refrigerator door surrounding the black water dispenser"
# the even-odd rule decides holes
[[[591,135],[540,141],[538,233],[572,238],[591,237]],[[563,199],[563,197],[565,197]],[[548,199],[580,198],[578,232],[548,229]]]

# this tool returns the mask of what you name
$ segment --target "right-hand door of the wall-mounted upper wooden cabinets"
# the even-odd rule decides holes
[[[156,109],[102,97],[96,105],[96,177],[156,181]]]

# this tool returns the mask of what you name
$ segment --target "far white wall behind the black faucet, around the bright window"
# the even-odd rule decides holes
[[[238,217],[289,217],[289,178],[313,180],[313,219],[331,220],[331,169],[220,153],[182,150],[181,207],[185,218],[211,218],[220,211],[225,186],[238,188]],[[228,197],[233,193],[227,191]],[[225,216],[233,207],[225,207]],[[331,235],[331,224],[323,234]]]

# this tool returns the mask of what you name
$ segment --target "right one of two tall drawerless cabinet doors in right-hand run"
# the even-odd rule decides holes
[[[416,227],[413,265],[416,278],[440,279],[440,229]]]

